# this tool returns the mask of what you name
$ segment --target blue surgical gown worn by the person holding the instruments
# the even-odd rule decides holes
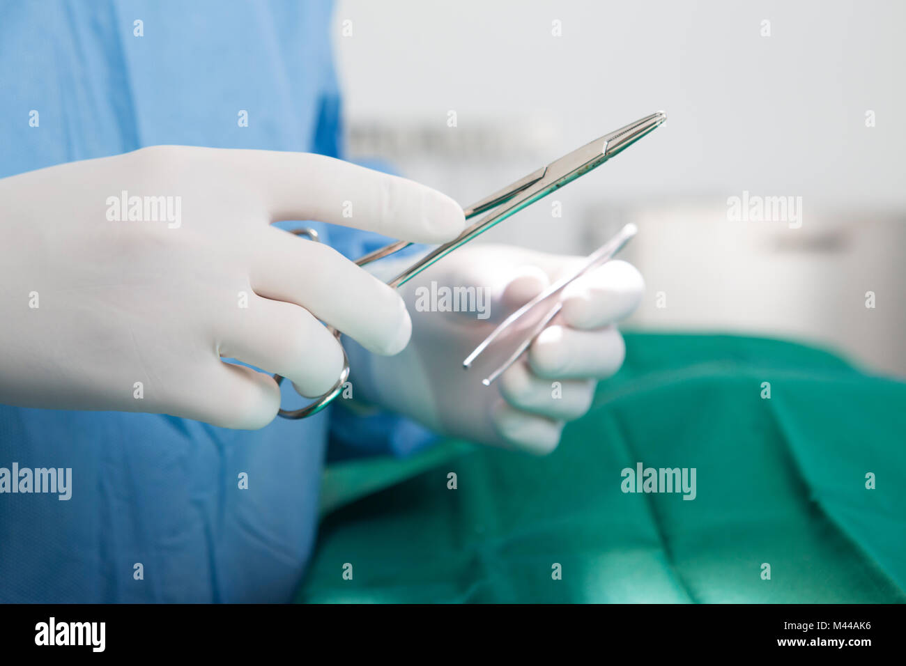
[[[330,19],[329,3],[294,0],[6,3],[0,177],[154,144],[337,156]],[[348,256],[380,242],[322,231]],[[301,403],[284,389],[284,404]],[[68,501],[0,495],[0,602],[288,600],[313,545],[328,431],[347,451],[424,437],[389,420],[332,426],[329,411],[248,432],[0,406],[0,467],[72,468]]]

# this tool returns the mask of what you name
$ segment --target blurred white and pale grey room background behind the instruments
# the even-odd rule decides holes
[[[341,0],[334,23],[352,157],[462,204],[667,111],[487,241],[585,255],[635,221],[633,328],[773,335],[906,376],[906,3]],[[728,221],[743,190],[801,197],[802,227]]]

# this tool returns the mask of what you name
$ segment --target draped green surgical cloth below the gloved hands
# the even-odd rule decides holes
[[[551,456],[446,442],[329,468],[297,600],[906,601],[906,384],[793,343],[626,339]],[[623,492],[640,462],[695,468],[695,498]]]

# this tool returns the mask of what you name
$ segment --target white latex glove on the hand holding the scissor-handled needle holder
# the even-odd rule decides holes
[[[116,219],[124,191],[170,198],[171,215]],[[399,294],[271,222],[429,243],[465,226],[439,192],[338,159],[182,146],[0,179],[0,216],[0,402],[242,429],[275,417],[279,389],[221,356],[316,396],[339,376],[342,350],[315,317],[371,352],[410,338]]]

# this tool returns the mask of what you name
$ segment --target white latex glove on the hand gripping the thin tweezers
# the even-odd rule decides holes
[[[481,383],[487,372],[465,371],[462,361],[507,314],[583,259],[492,245],[444,257],[401,289],[413,324],[403,352],[381,358],[349,345],[356,399],[449,436],[538,454],[554,450],[564,422],[591,406],[596,381],[622,365],[625,347],[612,324],[641,301],[644,283],[633,266],[611,261],[567,286],[561,314],[490,387]],[[487,289],[490,316],[419,311],[419,288],[432,281]]]

